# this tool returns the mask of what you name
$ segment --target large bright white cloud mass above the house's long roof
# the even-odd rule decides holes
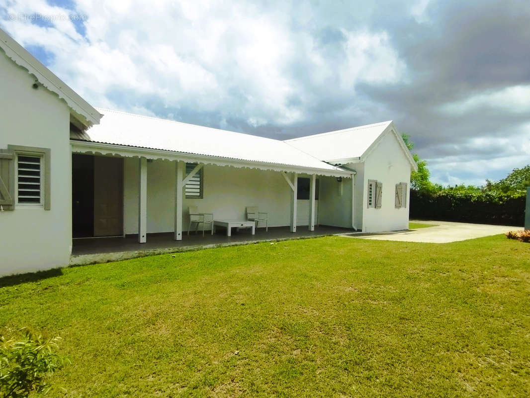
[[[156,98],[163,107],[217,114],[225,122],[235,117],[252,127],[288,126],[311,117],[305,105],[321,100],[315,93],[329,90],[330,81],[339,94],[350,94],[358,82],[401,79],[404,64],[386,32],[343,30],[345,57],[337,64],[315,51],[311,29],[293,30],[283,7],[78,0],[76,12],[88,16],[86,37],[70,21],[53,22],[53,27],[3,24],[22,45],[42,46],[53,54],[47,66],[87,101],[122,110],[144,109],[146,101]],[[72,13],[45,0],[12,2],[7,11]],[[314,18],[311,9],[304,11],[303,23],[312,24]],[[299,54],[307,55],[304,73],[316,90],[292,75]]]

